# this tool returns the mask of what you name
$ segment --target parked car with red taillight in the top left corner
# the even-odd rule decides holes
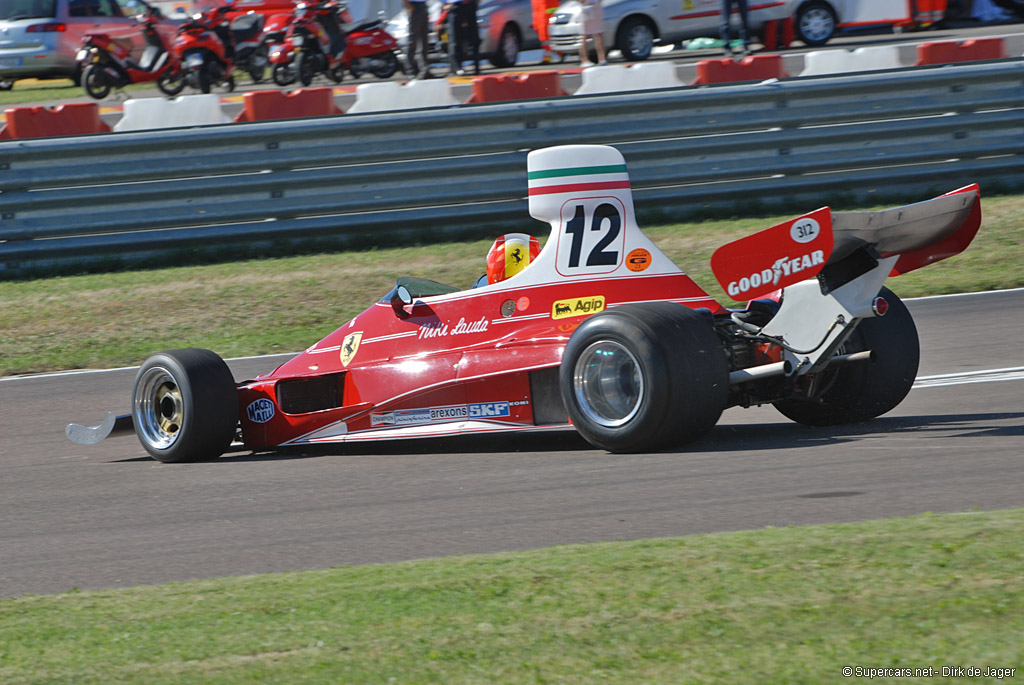
[[[0,89],[28,78],[78,83],[75,52],[87,33],[130,43],[138,59],[145,41],[134,14],[143,9],[135,0],[0,0]],[[175,25],[165,19],[158,30],[169,42]]]

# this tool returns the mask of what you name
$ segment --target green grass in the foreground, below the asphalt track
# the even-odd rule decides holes
[[[0,600],[0,682],[1019,678],[1022,526],[1021,509],[925,514],[23,596]]]

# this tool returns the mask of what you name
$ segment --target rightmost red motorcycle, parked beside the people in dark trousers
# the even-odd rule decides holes
[[[274,83],[287,86],[298,79],[308,86],[317,74],[341,83],[346,71],[353,78],[369,72],[387,79],[399,69],[404,71],[398,43],[380,19],[359,25],[346,35],[341,25],[351,22],[344,5],[298,4],[285,41],[270,51]],[[332,36],[335,28],[337,33]]]

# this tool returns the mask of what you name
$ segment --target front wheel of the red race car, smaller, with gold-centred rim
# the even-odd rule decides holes
[[[234,378],[210,350],[154,354],[135,376],[132,422],[139,442],[158,461],[216,459],[230,445],[239,424]]]

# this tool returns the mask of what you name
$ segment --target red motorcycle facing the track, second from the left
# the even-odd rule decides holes
[[[185,82],[200,92],[209,93],[214,85],[227,92],[234,90],[234,65],[228,53],[233,46],[225,17],[231,9],[231,5],[222,5],[193,14],[174,39],[173,49],[181,56]]]

